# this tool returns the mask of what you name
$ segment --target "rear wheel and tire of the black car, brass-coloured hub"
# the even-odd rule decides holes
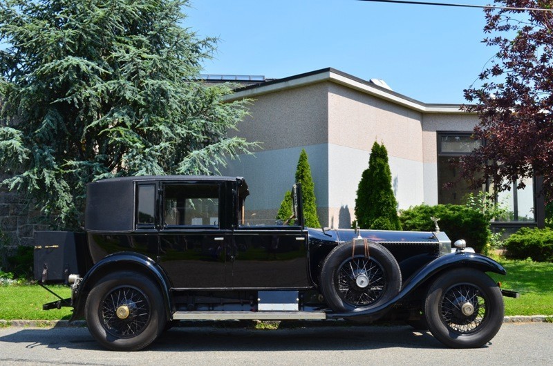
[[[158,285],[132,271],[114,272],[97,282],[86,299],[85,314],[88,331],[113,351],[147,347],[167,324]]]

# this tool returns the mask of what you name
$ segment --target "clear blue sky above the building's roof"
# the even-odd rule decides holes
[[[456,2],[442,0],[442,2]],[[484,5],[487,0],[460,3]],[[184,26],[219,37],[204,73],[288,77],[332,67],[426,103],[463,103],[494,55],[482,9],[355,0],[191,0]]]

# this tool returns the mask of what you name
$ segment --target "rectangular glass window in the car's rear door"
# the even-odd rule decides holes
[[[218,184],[166,184],[165,227],[219,227]]]

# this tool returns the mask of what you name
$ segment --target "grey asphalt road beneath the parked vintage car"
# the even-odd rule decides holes
[[[480,349],[394,327],[178,327],[138,352],[105,351],[86,328],[0,329],[1,365],[551,365],[553,324],[504,324]]]

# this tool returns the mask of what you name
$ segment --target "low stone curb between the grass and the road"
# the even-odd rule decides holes
[[[317,321],[317,320],[315,320]],[[523,323],[523,322],[553,322],[553,316],[534,315],[534,316],[505,316],[504,323]],[[181,322],[182,326],[192,327],[214,327],[217,325],[234,325],[234,327],[243,327],[243,322],[230,320],[196,320]],[[328,324],[328,321],[325,321]],[[305,323],[303,323],[305,325]],[[331,324],[328,324],[331,325]],[[0,328],[5,327],[32,327],[32,328],[75,328],[86,327],[85,320],[75,320],[69,323],[69,320],[0,320]]]

